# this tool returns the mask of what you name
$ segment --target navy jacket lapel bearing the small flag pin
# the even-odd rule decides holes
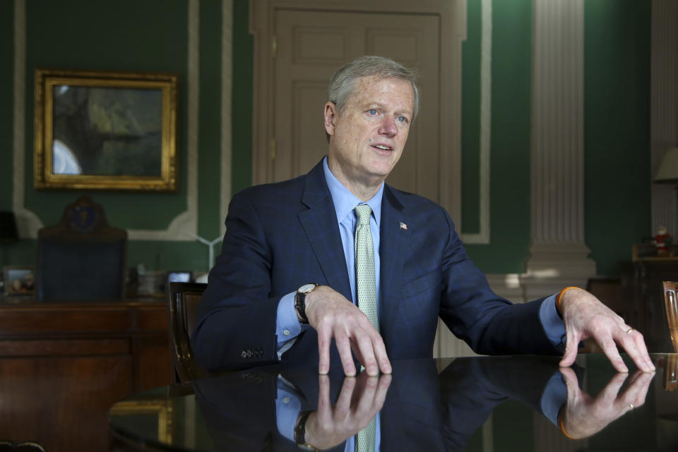
[[[403,205],[387,185],[381,201],[381,232],[379,256],[381,258],[381,335],[388,337],[388,328],[398,312],[403,299],[400,292],[403,264],[410,253],[409,218]],[[386,344],[388,347],[388,344]]]

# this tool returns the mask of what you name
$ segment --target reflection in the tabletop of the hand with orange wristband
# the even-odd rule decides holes
[[[654,377],[651,372],[636,371],[629,386],[619,393],[629,375],[616,374],[596,398],[591,398],[579,388],[572,369],[563,367],[560,371],[567,386],[567,403],[561,409],[559,422],[563,433],[572,439],[595,434],[617,417],[643,405]]]

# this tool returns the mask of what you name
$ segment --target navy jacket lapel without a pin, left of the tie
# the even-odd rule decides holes
[[[311,242],[311,248],[328,285],[347,299],[352,299],[337,214],[325,182],[322,162],[311,169],[306,177],[302,203],[308,210],[299,212],[299,221]]]

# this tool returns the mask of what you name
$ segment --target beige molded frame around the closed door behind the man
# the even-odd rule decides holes
[[[461,44],[466,39],[466,0],[250,0],[253,36],[252,183],[271,182],[273,164],[273,37],[280,10],[415,13],[440,20],[439,203],[461,224]],[[425,108],[425,105],[424,105]]]

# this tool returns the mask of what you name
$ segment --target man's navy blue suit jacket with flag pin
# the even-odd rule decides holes
[[[329,285],[352,299],[322,162],[307,175],[236,194],[226,228],[191,337],[206,369],[275,362],[278,302],[301,285]],[[539,321],[541,300],[511,304],[495,295],[441,206],[386,185],[380,234],[379,321],[390,359],[432,357],[439,316],[478,353],[559,352]],[[339,362],[334,345],[331,359]],[[283,361],[318,361],[313,328]]]

